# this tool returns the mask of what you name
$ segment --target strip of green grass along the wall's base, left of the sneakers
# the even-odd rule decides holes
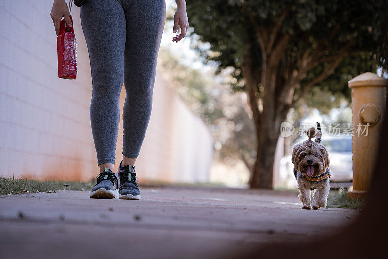
[[[0,194],[19,194],[23,190],[29,192],[47,192],[49,190],[92,190],[96,181],[67,182],[67,181],[38,181],[0,177]],[[65,187],[65,184],[68,185]]]

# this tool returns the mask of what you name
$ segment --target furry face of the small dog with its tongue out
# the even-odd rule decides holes
[[[294,146],[292,163],[302,174],[319,176],[326,172],[330,165],[329,153],[323,145],[309,139]]]

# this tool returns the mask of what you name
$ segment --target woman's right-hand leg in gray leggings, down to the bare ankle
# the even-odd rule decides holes
[[[156,61],[166,19],[164,0],[122,0],[127,35],[124,52],[123,165],[134,165],[152,108]]]

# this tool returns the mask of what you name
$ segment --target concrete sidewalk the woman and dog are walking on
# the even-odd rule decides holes
[[[301,210],[268,190],[142,188],[142,200],[60,191],[0,197],[1,258],[225,258],[332,234],[359,211]]]

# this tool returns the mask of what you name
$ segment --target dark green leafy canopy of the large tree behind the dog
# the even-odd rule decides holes
[[[240,81],[244,54],[249,53],[258,74],[261,69],[260,40],[255,26],[271,34],[287,9],[275,40],[276,44],[282,35],[291,35],[282,53],[282,64],[292,64],[298,69],[306,50],[310,54],[323,52],[322,64],[308,72],[296,87],[295,95],[329,66],[331,57],[346,51],[346,58],[335,72],[317,85],[349,96],[346,85],[349,78],[377,68],[382,6],[382,0],[197,0],[188,1],[187,11],[194,34],[202,42],[210,43],[210,48],[201,42],[194,43],[194,47],[206,61],[216,62],[219,69],[234,67],[233,76],[238,80],[233,88],[239,90],[244,87]]]

